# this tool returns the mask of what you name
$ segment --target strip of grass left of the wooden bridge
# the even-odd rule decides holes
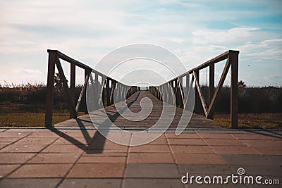
[[[84,113],[78,113],[83,115]],[[70,113],[53,113],[53,125],[68,120]],[[44,127],[45,113],[1,113],[0,127]]]

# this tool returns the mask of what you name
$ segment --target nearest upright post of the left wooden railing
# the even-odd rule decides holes
[[[58,61],[56,51],[48,51],[48,76],[47,76],[47,93],[46,93],[46,111],[45,111],[45,127],[52,127],[53,118],[53,98],[54,98],[54,75],[55,63]]]

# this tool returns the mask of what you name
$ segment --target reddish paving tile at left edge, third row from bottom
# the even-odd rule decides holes
[[[35,153],[0,153],[1,164],[21,164],[35,156]]]

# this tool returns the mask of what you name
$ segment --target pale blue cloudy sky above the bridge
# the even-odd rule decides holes
[[[239,50],[239,80],[282,86],[281,0],[11,0],[0,1],[0,25],[0,84],[46,83],[47,49],[95,67],[120,46],[145,43],[173,52],[187,70]],[[67,63],[63,68],[69,75]],[[217,81],[222,68],[216,65]],[[77,75],[81,83],[82,70]],[[205,84],[206,70],[200,77]]]

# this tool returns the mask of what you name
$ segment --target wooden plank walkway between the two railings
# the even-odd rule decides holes
[[[161,112],[163,109],[162,101],[159,101],[159,99],[157,99],[150,92],[140,91],[130,96],[126,102],[129,106],[130,111],[132,111],[133,113],[138,113],[141,111],[140,101],[145,97],[149,98],[152,101],[153,107],[152,107],[152,112],[144,120],[132,121],[123,118],[123,116],[117,112],[115,105],[106,107],[105,111],[108,117],[110,118],[111,122],[113,122],[118,127],[121,127],[123,129],[147,129],[148,127],[152,127],[155,123],[157,123],[157,121],[161,117]],[[175,106],[172,106],[170,104],[165,104],[165,105],[166,108],[168,108],[171,111],[173,111],[173,109],[175,108]],[[169,126],[169,129],[176,129],[182,113],[183,113],[183,109],[176,107],[176,113],[174,115],[171,125]],[[105,117],[101,117],[100,110],[94,111],[91,114],[97,115],[97,118],[94,118],[94,123],[97,125],[102,125],[102,123],[106,121]],[[171,114],[173,113],[170,113],[169,115],[164,115],[163,118],[169,119],[171,118]],[[164,127],[165,126],[166,125],[164,125]],[[76,120],[71,119],[71,120],[66,120],[62,123],[57,123],[55,127],[94,127],[94,125],[92,124],[89,115],[82,115]],[[213,128],[221,128],[221,126],[218,123],[214,123],[213,120],[209,120],[202,115],[197,115],[194,113],[192,115],[190,123],[188,124],[188,127],[186,127],[186,129],[189,128],[213,129]]]

